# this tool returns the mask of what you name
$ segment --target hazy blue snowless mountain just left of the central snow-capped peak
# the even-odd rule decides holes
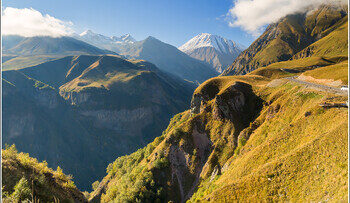
[[[120,47],[120,54],[150,61],[159,69],[190,81],[201,83],[218,74],[209,65],[154,37]]]

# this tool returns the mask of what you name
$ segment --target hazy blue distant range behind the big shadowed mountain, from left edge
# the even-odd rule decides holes
[[[73,37],[5,36],[3,41],[5,70],[38,65],[63,56],[116,55],[118,52],[130,59],[150,61],[163,71],[193,82],[203,82],[218,75],[210,65],[154,37],[135,41],[130,35],[106,37],[88,30]]]

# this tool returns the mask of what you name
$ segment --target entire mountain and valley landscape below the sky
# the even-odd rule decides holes
[[[248,48],[5,36],[3,201],[346,202],[346,9],[286,15]]]

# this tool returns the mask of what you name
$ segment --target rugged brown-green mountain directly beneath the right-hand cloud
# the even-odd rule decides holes
[[[329,33],[347,8],[322,6],[308,13],[282,18],[243,51],[223,75],[242,75],[271,63],[289,60],[294,54]]]

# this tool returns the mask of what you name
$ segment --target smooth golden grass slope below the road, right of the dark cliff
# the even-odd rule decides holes
[[[270,104],[257,118],[262,124],[191,201],[345,201],[347,109],[324,110],[318,104],[332,95],[292,84],[259,94]]]

